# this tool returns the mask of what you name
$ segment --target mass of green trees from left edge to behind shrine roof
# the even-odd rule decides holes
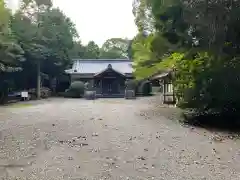
[[[21,90],[36,85],[40,98],[42,84],[63,74],[73,58],[126,57],[127,40],[108,40],[105,52],[94,41],[84,46],[76,39],[75,25],[51,0],[22,0],[14,14],[0,0],[0,99],[12,87]]]

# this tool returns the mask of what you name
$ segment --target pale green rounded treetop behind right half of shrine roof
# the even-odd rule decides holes
[[[128,58],[128,48],[130,41],[122,38],[108,39],[101,48],[100,57],[106,59]]]

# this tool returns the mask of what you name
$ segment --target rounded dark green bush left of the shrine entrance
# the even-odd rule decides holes
[[[74,81],[69,89],[65,91],[65,97],[80,98],[84,96],[84,83],[82,81]]]

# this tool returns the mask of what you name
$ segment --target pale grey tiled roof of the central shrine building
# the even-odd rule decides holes
[[[121,74],[132,74],[133,67],[130,59],[74,59],[72,69],[66,70],[68,74],[97,74],[108,68]]]

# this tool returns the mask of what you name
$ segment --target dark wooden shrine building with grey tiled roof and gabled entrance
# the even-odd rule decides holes
[[[71,82],[89,84],[98,96],[124,96],[126,80],[134,78],[129,59],[75,59],[72,68],[65,72]]]

